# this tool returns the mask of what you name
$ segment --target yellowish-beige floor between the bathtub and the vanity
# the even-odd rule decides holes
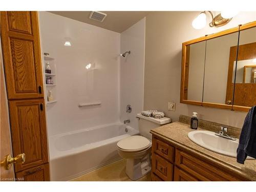
[[[125,162],[125,159],[121,159],[71,181],[132,181],[125,174]],[[151,173],[148,173],[138,181],[151,181]]]

